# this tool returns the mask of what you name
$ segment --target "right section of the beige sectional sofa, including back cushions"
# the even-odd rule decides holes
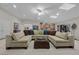
[[[48,36],[50,42],[56,47],[71,47],[74,48],[74,38],[69,33],[57,32],[55,36]]]

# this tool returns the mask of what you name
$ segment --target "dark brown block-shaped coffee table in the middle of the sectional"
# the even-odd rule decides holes
[[[34,41],[34,48],[35,49],[49,49],[49,41],[45,39],[36,39]]]

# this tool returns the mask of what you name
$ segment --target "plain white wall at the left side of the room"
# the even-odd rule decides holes
[[[19,21],[16,17],[0,10],[0,38],[4,38],[5,35],[12,32],[14,22]]]

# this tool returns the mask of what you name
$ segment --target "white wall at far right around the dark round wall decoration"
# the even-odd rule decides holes
[[[72,25],[73,23],[75,23],[77,25],[77,28],[75,29],[75,33],[74,33],[74,36],[76,39],[79,40],[79,17],[75,17],[75,18],[72,18],[70,20],[67,20],[67,21],[62,21],[62,22],[59,22],[58,24],[70,24]]]

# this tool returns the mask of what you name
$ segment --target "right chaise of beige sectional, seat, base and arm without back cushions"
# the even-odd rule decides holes
[[[68,36],[68,39],[62,39],[56,36],[49,35],[49,41],[56,47],[56,48],[74,48],[74,39],[72,36]]]

